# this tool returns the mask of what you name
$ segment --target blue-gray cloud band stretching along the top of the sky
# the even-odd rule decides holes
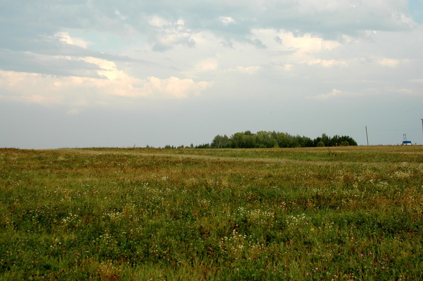
[[[158,15],[171,22],[184,19],[186,27],[193,32],[210,30],[225,40],[243,41],[252,28],[274,28],[294,30],[299,34],[316,33],[324,38],[338,38],[341,34],[360,36],[363,30],[404,30],[409,23],[401,20],[401,15],[411,16],[403,2],[396,4],[396,13],[386,2],[337,2],[334,8],[326,2],[319,6],[306,5],[308,1],[276,1],[261,4],[249,1],[239,3],[227,1],[169,1],[166,4],[156,1],[72,1],[51,4],[50,1],[3,2],[0,29],[1,45],[4,48],[46,48],[42,38],[52,36],[64,29],[86,29],[99,32],[112,32],[127,36],[156,34],[149,26],[146,17]],[[312,1],[309,1],[312,3]],[[230,16],[234,24],[222,24],[221,16]],[[171,46],[153,36],[153,46],[166,50]],[[41,42],[40,42],[41,41]],[[26,44],[25,44],[26,43]],[[176,40],[174,44],[193,46],[194,41]]]

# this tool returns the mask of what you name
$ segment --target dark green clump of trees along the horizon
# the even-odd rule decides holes
[[[318,146],[348,146],[357,145],[357,142],[349,136],[329,137],[322,134],[314,140],[305,136],[291,136],[288,133],[275,131],[259,131],[255,134],[250,131],[235,133],[228,137],[217,135],[211,143],[178,147],[166,145],[164,148],[272,148],[272,147],[318,147]]]

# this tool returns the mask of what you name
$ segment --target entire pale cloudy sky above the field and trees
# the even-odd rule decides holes
[[[0,147],[423,144],[422,119],[423,0],[0,0]]]

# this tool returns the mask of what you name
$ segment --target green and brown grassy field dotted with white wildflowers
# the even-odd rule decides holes
[[[421,280],[423,146],[0,149],[0,280]]]

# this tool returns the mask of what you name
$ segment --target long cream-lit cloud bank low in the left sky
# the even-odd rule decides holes
[[[54,76],[38,73],[0,71],[2,99],[42,105],[87,106],[113,104],[113,97],[175,99],[199,95],[210,83],[192,79],[154,76],[145,80],[132,77],[117,68],[114,62],[86,57],[79,58],[98,66],[98,76]],[[24,81],[24,83],[23,83]]]

